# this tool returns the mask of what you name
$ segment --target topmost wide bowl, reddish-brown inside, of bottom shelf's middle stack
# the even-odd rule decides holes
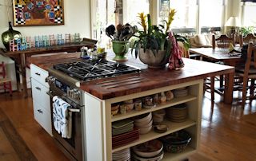
[[[160,154],[162,147],[163,145],[161,141],[158,139],[153,139],[146,143],[141,143],[132,147],[132,150],[138,156],[150,158]]]

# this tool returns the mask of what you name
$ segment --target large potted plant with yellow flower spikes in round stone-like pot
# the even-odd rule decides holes
[[[139,14],[139,24],[142,29],[138,29],[134,34],[137,38],[131,47],[135,50],[135,57],[139,57],[149,68],[162,68],[167,64],[172,50],[176,47],[172,40],[182,41],[186,48],[190,45],[186,37],[170,33],[170,24],[174,20],[175,13],[175,10],[170,10],[168,20],[164,21],[165,25],[158,26],[151,24],[150,14]]]

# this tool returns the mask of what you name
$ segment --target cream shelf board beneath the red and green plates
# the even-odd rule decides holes
[[[112,149],[112,152],[120,151],[120,150],[126,149],[128,147],[134,147],[135,145],[138,145],[140,143],[145,143],[145,142],[150,141],[152,139],[157,139],[157,138],[162,137],[164,135],[168,135],[170,133],[177,132],[177,131],[182,130],[184,128],[194,126],[197,123],[193,120],[188,119],[188,120],[186,120],[185,122],[182,122],[182,123],[174,123],[174,122],[164,120],[162,122],[162,124],[166,124],[169,127],[169,130],[167,132],[158,133],[158,132],[154,132],[154,130],[152,129],[147,134],[139,135],[139,139],[134,140],[133,142],[122,145],[121,147],[115,147],[114,149]]]

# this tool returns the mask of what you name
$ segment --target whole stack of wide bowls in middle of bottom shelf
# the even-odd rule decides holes
[[[132,147],[132,159],[135,161],[158,161],[163,157],[163,144],[154,139]]]

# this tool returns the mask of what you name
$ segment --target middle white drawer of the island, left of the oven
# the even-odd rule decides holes
[[[49,88],[46,88],[33,78],[31,79],[31,84],[33,100],[50,112],[50,96],[48,96],[46,93],[49,91]]]

